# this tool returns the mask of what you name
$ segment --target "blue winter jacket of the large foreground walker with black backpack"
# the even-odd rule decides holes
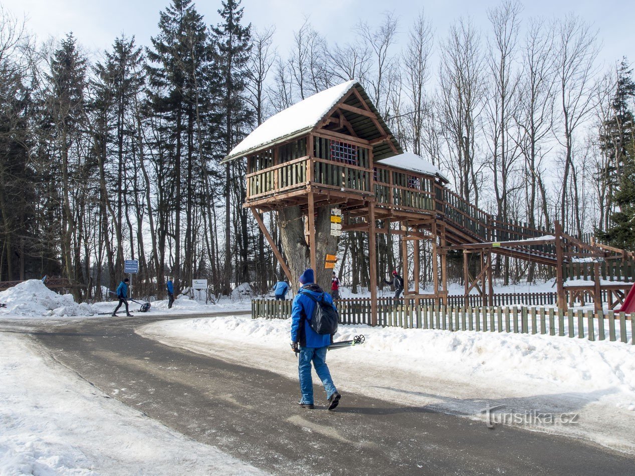
[[[293,305],[291,305],[291,341],[299,342],[302,347],[326,347],[331,344],[331,336],[329,334],[320,335],[311,329],[309,321],[311,321],[316,303],[309,296],[304,296],[302,293],[310,293],[317,299],[324,294],[324,300],[335,308],[330,294],[324,293],[317,284],[311,282],[302,286],[293,300]],[[301,329],[300,323],[303,320],[304,329]]]

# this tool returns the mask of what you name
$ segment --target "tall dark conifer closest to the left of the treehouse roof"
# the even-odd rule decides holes
[[[243,26],[243,8],[240,1],[224,0],[218,13],[222,22],[212,29],[217,49],[217,63],[220,72],[220,90],[222,98],[223,129],[221,132],[225,155],[236,145],[244,134],[246,126],[251,124],[253,112],[248,109],[244,95],[246,93],[246,67],[250,60],[251,23]],[[239,161],[242,162],[242,161]],[[227,163],[225,165],[225,276],[224,292],[229,293],[231,281],[231,193],[232,183],[238,185],[236,197],[237,220],[234,222],[234,234],[238,253],[236,256],[236,282],[249,280],[248,252],[249,235],[247,229],[247,211],[241,208],[244,203],[244,164]]]

